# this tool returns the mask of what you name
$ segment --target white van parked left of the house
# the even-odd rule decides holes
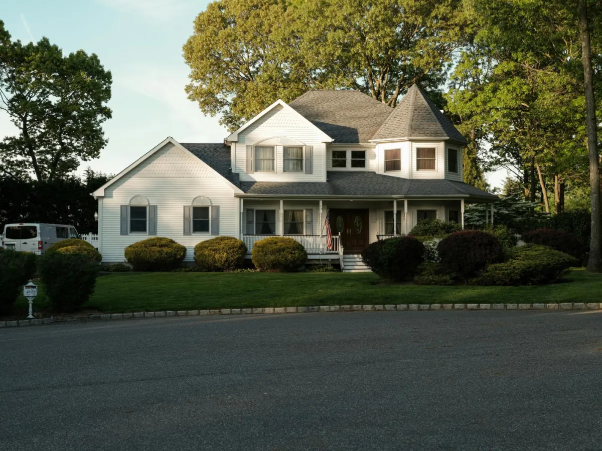
[[[81,238],[73,225],[19,222],[4,226],[2,247],[41,255],[52,244],[67,238]]]

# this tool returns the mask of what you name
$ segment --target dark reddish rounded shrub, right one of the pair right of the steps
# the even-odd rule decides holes
[[[442,265],[464,281],[491,263],[503,259],[503,247],[491,233],[480,230],[454,232],[439,243],[437,250]]]

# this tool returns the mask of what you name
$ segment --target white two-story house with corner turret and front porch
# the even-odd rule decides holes
[[[463,224],[465,204],[497,199],[462,182],[466,143],[415,85],[394,109],[359,91],[277,100],[223,143],[167,138],[93,192],[99,251],[123,262],[128,245],[166,236],[192,261],[194,245],[217,235],[249,253],[259,239],[290,236],[310,261],[358,269],[370,242],[421,219]]]

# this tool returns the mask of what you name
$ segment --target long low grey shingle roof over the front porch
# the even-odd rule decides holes
[[[498,197],[463,182],[445,179],[415,180],[364,171],[329,171],[327,182],[241,182],[252,195],[332,195],[386,197],[471,197],[495,200]]]

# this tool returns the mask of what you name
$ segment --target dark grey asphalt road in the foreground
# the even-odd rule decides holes
[[[602,311],[0,330],[0,450],[600,450]]]

